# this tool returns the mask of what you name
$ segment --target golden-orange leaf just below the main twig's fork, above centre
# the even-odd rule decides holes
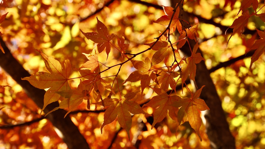
[[[152,57],[152,63],[151,65],[156,65],[159,64],[162,60],[164,60],[165,65],[167,67],[171,66],[173,61],[174,61],[174,56],[173,56],[173,50],[171,48],[170,43],[168,43],[167,37],[166,36],[162,36],[160,38],[162,41],[158,41],[153,47],[153,50],[156,50],[157,52],[154,53],[153,57]],[[144,45],[147,46],[152,46],[155,42],[152,43],[145,43]],[[175,54],[176,54],[176,58],[180,58],[179,52],[178,50],[175,49]]]

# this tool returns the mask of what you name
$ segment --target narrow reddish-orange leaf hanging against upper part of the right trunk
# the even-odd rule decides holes
[[[188,78],[195,81],[195,75],[196,75],[196,64],[201,62],[202,60],[205,61],[205,59],[201,56],[201,53],[196,53],[198,49],[198,42],[193,47],[191,57],[188,57],[186,59],[186,63],[181,68],[181,75],[182,75],[182,88],[185,80]]]

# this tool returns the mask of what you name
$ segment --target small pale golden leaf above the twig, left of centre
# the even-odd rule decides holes
[[[82,53],[84,54],[88,61],[85,62],[85,64],[83,64],[79,69],[82,68],[91,68],[91,72],[94,72],[95,70],[97,70],[99,68],[99,61],[98,61],[98,55],[90,55],[90,54],[86,54],[86,53]]]

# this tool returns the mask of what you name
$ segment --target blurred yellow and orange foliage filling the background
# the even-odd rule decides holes
[[[145,2],[160,6],[161,1],[146,0]],[[0,14],[8,12],[6,20],[2,22],[2,38],[11,49],[14,57],[31,74],[38,71],[47,71],[41,56],[35,49],[43,51],[46,55],[63,62],[69,59],[72,67],[78,69],[87,61],[82,53],[91,53],[94,43],[87,40],[80,32],[96,31],[96,16],[109,30],[118,37],[124,38],[130,44],[127,52],[138,53],[148,48],[144,43],[151,43],[153,38],[159,36],[165,26],[155,24],[164,15],[164,11],[151,6],[127,0],[7,0],[6,6],[1,4]],[[100,12],[94,13],[103,6]],[[186,0],[184,10],[192,14],[193,24],[198,24],[197,37],[200,48],[204,53],[208,69],[238,56],[244,55],[251,47],[257,33],[255,28],[264,30],[265,25],[256,16],[250,17],[245,34],[235,34],[228,45],[228,34],[224,30],[232,25],[240,9],[240,1],[236,0]],[[164,4],[165,5],[165,4]],[[259,1],[259,8],[264,1]],[[253,11],[249,8],[249,11]],[[259,13],[264,13],[262,8]],[[187,18],[188,19],[188,18]],[[200,19],[203,19],[202,21]],[[185,20],[185,18],[184,18]],[[219,26],[213,25],[214,23]],[[174,38],[174,37],[172,37]],[[117,40],[113,40],[117,45]],[[136,57],[142,60],[150,57],[154,51],[143,53]],[[99,61],[107,66],[112,66],[123,61],[121,55],[112,49],[108,60],[105,53],[99,55]],[[249,71],[250,57],[239,60],[228,67],[222,67],[211,77],[222,99],[222,106],[227,115],[230,130],[236,138],[238,149],[263,149],[265,148],[265,57],[262,55]],[[104,66],[101,67],[104,70]],[[131,64],[125,64],[121,70],[119,87],[130,92],[140,89],[140,83],[131,83],[138,88],[121,83],[134,71]],[[19,72],[18,72],[19,73]],[[116,75],[116,71],[107,71],[101,76]],[[80,76],[77,71],[72,71],[71,77]],[[76,88],[79,79],[70,80],[71,88]],[[0,84],[10,87],[0,88],[0,149],[14,148],[67,148],[62,139],[56,134],[52,124],[39,115],[40,109],[27,97],[23,89],[0,68]],[[191,86],[191,85],[190,85]],[[192,88],[192,86],[190,87]],[[183,97],[189,96],[184,89]],[[144,90],[145,99],[153,95],[150,89]],[[139,99],[139,100],[138,100]],[[141,97],[136,99],[143,103]],[[94,105],[91,105],[93,109]],[[200,142],[196,133],[188,124],[183,124],[176,129],[175,122],[167,116],[151,130],[152,118],[143,115],[133,116],[131,139],[128,140],[125,130],[120,129],[117,121],[104,127],[103,134],[100,126],[103,123],[104,112],[85,112],[86,101],[72,112],[71,118],[85,136],[91,148],[210,148],[210,142],[201,127],[203,141]],[[102,110],[98,107],[97,110]],[[144,109],[152,114],[154,109]],[[150,120],[151,119],[151,120]],[[24,122],[38,120],[35,123]],[[139,129],[139,126],[142,126]],[[5,127],[11,126],[11,127]],[[137,134],[140,131],[140,134]],[[116,136],[116,133],[118,134]],[[112,140],[114,139],[114,143]],[[112,144],[111,144],[112,143]]]

